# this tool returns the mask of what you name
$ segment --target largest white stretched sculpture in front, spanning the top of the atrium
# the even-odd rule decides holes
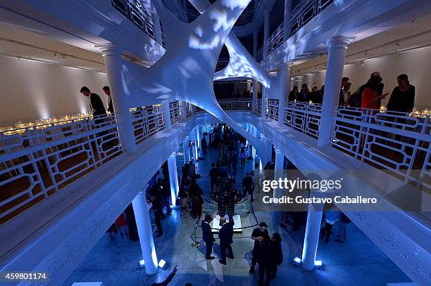
[[[261,141],[247,134],[220,108],[213,90],[218,55],[250,1],[218,0],[192,23],[175,18],[161,0],[153,1],[167,39],[165,54],[149,68],[123,61],[124,86],[131,107],[165,99],[187,101],[232,126],[261,149]]]

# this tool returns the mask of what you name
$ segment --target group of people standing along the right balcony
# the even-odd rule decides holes
[[[408,82],[407,74],[399,74],[396,80],[398,86],[392,90],[386,106],[387,111],[412,112],[415,103],[415,86]],[[349,77],[343,77],[338,105],[361,108],[362,110],[380,110],[382,100],[389,95],[389,92],[383,93],[384,86],[380,72],[373,72],[370,74],[370,79],[366,84],[362,84],[354,93],[351,93],[350,79]],[[301,90],[299,90],[298,86],[294,86],[289,93],[288,100],[323,103],[324,96],[325,85],[320,89],[318,89],[318,86],[313,86],[310,91],[308,84],[302,84]]]

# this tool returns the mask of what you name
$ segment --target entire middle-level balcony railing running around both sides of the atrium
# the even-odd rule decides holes
[[[252,110],[251,98],[219,100],[223,110]],[[187,117],[192,115],[187,103]],[[283,122],[317,139],[322,105],[287,102]],[[194,112],[201,112],[199,108]],[[277,120],[278,100],[266,116]],[[139,144],[165,128],[162,105],[130,111]],[[180,118],[170,104],[170,120]],[[330,145],[418,188],[431,188],[431,115],[339,107],[332,117]],[[0,132],[0,224],[123,153],[114,114],[81,117]]]

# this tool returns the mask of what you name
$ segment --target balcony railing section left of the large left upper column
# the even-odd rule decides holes
[[[120,155],[115,115],[0,133],[0,224]]]

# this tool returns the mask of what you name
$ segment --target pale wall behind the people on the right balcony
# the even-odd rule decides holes
[[[398,85],[396,77],[399,74],[407,74],[410,83],[416,87],[415,107],[423,110],[431,107],[430,58],[431,47],[420,48],[396,56],[366,60],[364,65],[360,63],[344,65],[343,75],[350,78],[351,90],[356,91],[361,84],[367,82],[372,72],[380,72],[385,84],[384,91],[389,91],[390,94]],[[301,76],[301,79],[293,79],[290,82],[290,89],[292,90],[295,85],[301,89],[303,83],[308,84],[309,89],[313,86],[318,86],[320,89],[320,86],[325,84],[325,73],[326,71],[315,72]],[[382,104],[386,105],[387,100],[389,100],[389,96]]]

